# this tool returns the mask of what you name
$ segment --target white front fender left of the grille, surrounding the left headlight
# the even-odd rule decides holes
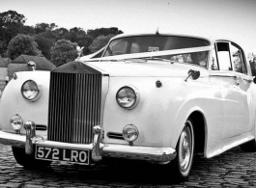
[[[14,132],[14,129],[10,126],[10,119],[15,114],[18,114],[23,122],[35,121],[38,124],[46,125],[48,117],[49,71],[30,71],[29,74],[23,71],[16,72],[16,75],[17,78],[12,79],[8,83],[1,96],[1,130]],[[22,84],[29,79],[36,81],[42,87],[42,95],[35,102],[27,101],[20,92]],[[25,134],[24,128],[20,129],[20,133]]]

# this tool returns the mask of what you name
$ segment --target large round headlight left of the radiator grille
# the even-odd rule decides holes
[[[34,80],[27,80],[21,87],[21,94],[29,101],[36,101],[40,98],[40,86]]]

